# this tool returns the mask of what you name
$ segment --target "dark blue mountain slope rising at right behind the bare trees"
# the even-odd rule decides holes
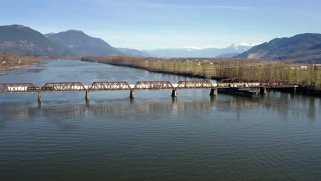
[[[234,58],[321,62],[321,34],[298,34],[275,38],[245,51]]]

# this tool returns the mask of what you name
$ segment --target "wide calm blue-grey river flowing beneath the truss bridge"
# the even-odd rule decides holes
[[[0,82],[191,78],[80,61],[7,71]],[[213,80],[214,82],[214,80]],[[268,91],[0,94],[0,180],[321,180],[321,100]]]

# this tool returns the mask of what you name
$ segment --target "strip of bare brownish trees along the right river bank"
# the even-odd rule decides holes
[[[295,64],[248,59],[195,59],[195,58],[134,58],[128,56],[84,57],[83,61],[101,62],[217,80],[230,77],[247,77],[266,82],[282,80],[305,86],[321,86],[321,67],[318,64]]]

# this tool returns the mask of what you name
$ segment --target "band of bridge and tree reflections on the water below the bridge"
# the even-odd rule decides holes
[[[220,98],[219,96],[222,96]],[[226,99],[228,97],[228,99]],[[294,114],[297,117],[307,117],[310,120],[316,119],[320,114],[320,99],[315,97],[297,96],[292,99],[288,94],[270,93],[270,96],[264,96],[263,99],[251,99],[247,97],[235,97],[227,95],[209,96],[209,99],[200,99],[200,101],[183,100],[172,97],[171,101],[135,101],[135,99],[108,99],[105,101],[85,100],[84,104],[69,104],[68,101],[50,101],[50,104],[42,105],[41,101],[36,104],[8,103],[0,106],[1,128],[4,128],[4,122],[27,121],[34,117],[43,115],[46,119],[60,121],[70,118],[84,117],[88,114],[93,115],[119,115],[122,112],[143,112],[143,114],[157,114],[157,112],[175,111],[175,110],[216,110],[221,112],[236,112],[237,119],[241,114],[247,114],[248,110],[274,110],[283,117]],[[98,104],[97,104],[98,102]],[[50,106],[53,105],[53,106]],[[295,111],[301,110],[301,111]],[[305,112],[305,110],[307,112]]]

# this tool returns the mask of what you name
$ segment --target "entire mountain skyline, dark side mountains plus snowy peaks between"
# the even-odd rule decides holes
[[[100,38],[78,30],[43,35],[23,25],[0,26],[0,52],[32,56],[136,56],[252,58],[321,63],[321,34],[298,34],[290,38],[275,38],[268,43],[233,44],[224,48],[181,47],[171,49],[115,48]]]

